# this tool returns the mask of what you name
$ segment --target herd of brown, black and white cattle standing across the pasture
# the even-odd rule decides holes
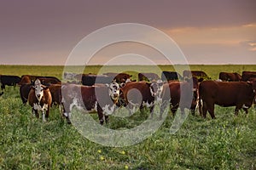
[[[1,89],[20,86],[20,98],[24,105],[28,101],[32,113],[43,121],[49,118],[52,105],[59,105],[67,122],[71,123],[73,106],[86,111],[96,111],[101,124],[108,123],[108,116],[116,108],[126,107],[130,114],[137,109],[148,107],[153,116],[154,105],[160,104],[160,118],[167,105],[172,114],[177,108],[181,114],[189,109],[195,115],[199,106],[200,115],[212,118],[214,105],[236,106],[235,114],[243,109],[246,113],[256,94],[256,71],[238,73],[220,72],[218,80],[211,80],[204,71],[183,71],[183,76],[175,71],[163,71],[161,77],[155,73],[138,73],[138,81],[126,73],[108,72],[103,75],[74,74],[66,72],[63,81],[56,77],[24,75],[22,77],[0,75]]]

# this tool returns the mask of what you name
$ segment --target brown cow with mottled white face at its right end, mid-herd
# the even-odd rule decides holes
[[[127,82],[120,88],[119,106],[127,106],[130,114],[148,107],[153,116],[155,102],[160,102],[163,82]]]

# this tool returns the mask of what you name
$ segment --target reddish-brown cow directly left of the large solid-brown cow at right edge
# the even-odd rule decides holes
[[[164,84],[161,94],[160,118],[167,105],[170,105],[173,116],[175,116],[178,107],[180,107],[182,114],[184,114],[184,109],[187,108],[192,115],[195,115],[198,98],[197,89],[198,80],[195,77],[184,82],[168,82]]]

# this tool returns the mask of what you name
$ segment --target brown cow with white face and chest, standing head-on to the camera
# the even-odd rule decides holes
[[[45,122],[49,118],[49,108],[51,102],[52,98],[49,88],[42,85],[37,79],[28,94],[28,103],[32,106],[32,113],[39,117],[38,111],[42,111],[43,122]]]

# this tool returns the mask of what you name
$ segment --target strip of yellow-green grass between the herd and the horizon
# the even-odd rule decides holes
[[[183,71],[183,65],[175,65],[177,69]],[[256,65],[189,65],[191,71],[205,71],[212,80],[218,79],[220,71],[237,72],[241,74],[242,71],[256,71]],[[133,74],[137,78],[137,72],[155,72],[161,74],[161,71],[175,71],[172,65],[88,65],[84,66],[42,66],[42,65],[0,65],[0,74],[3,75],[38,75],[38,76],[55,76],[62,77],[63,71],[84,71],[84,73],[99,74],[103,72],[120,72],[125,71]],[[179,72],[182,75],[182,72]]]

